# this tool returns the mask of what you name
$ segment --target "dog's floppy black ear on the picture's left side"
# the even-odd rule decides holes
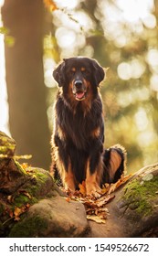
[[[56,69],[53,70],[53,78],[58,82],[61,87],[65,83],[65,61],[61,62]]]

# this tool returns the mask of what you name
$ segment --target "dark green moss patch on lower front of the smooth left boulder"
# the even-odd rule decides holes
[[[39,216],[32,216],[17,222],[9,233],[9,238],[34,238],[47,229],[46,219]]]

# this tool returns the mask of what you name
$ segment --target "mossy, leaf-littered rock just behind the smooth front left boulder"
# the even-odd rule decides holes
[[[21,219],[27,209],[41,198],[54,197],[58,194],[53,178],[46,170],[29,167],[23,171],[26,172],[25,182],[16,191],[10,195],[0,193],[0,220],[2,222],[0,233],[3,234],[2,236],[7,236],[10,229],[17,224],[16,219]],[[16,216],[18,211],[19,216]]]

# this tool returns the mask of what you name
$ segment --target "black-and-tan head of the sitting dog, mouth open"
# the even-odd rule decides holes
[[[97,94],[100,81],[104,79],[104,70],[95,59],[69,58],[58,65],[53,77],[63,88],[63,93],[71,93],[74,100],[84,101],[89,93]]]

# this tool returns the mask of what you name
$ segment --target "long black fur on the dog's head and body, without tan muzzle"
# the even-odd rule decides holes
[[[73,67],[77,70],[84,67],[88,71],[85,73],[79,71],[75,75],[72,72]],[[52,136],[52,147],[58,148],[59,159],[66,171],[70,160],[76,187],[78,187],[79,183],[86,179],[88,159],[90,160],[91,174],[99,167],[102,155],[104,155],[103,164],[108,166],[110,163],[111,156],[108,151],[103,149],[104,122],[102,101],[99,93],[100,81],[104,79],[104,70],[95,59],[70,58],[64,59],[58,68],[54,70],[53,76],[58,81],[58,87],[61,90],[58,91],[54,108],[55,128]],[[84,101],[76,101],[74,99],[74,95],[69,89],[69,83],[76,79],[75,76],[78,79],[89,81],[90,88],[88,88],[87,92],[90,97],[89,101],[87,99]],[[98,135],[94,135],[96,129],[100,131]],[[52,168],[55,169],[54,156],[52,157],[52,162]],[[123,167],[120,170],[122,173]],[[100,185],[106,180],[109,181],[107,168],[104,168],[104,171],[106,175],[102,176],[100,173]],[[62,178],[62,174],[60,176]],[[114,179],[117,177],[115,176]]]

